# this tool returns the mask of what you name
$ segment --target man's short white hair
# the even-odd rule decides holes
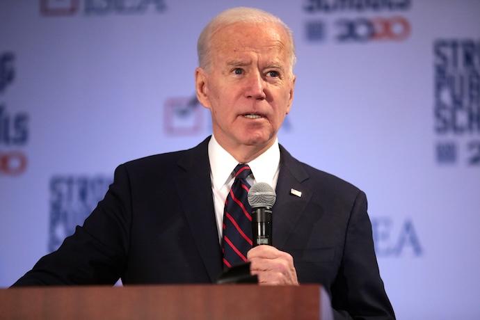
[[[285,22],[271,13],[256,8],[237,7],[219,13],[205,26],[197,42],[198,64],[209,72],[212,63],[211,38],[219,29],[236,23],[244,24],[277,24],[281,26],[289,38],[290,70],[293,72],[296,63],[294,34]]]

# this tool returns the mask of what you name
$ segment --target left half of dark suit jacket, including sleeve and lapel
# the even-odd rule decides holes
[[[207,145],[118,166],[83,226],[14,285],[214,282],[222,259]]]

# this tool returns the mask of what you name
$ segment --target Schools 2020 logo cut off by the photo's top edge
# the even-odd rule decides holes
[[[309,42],[323,42],[328,36],[339,43],[380,42],[406,40],[411,25],[401,15],[378,13],[410,10],[409,0],[345,1],[306,0],[303,10],[309,14],[375,13],[374,17],[339,17],[338,19],[309,19],[305,22],[305,35]]]

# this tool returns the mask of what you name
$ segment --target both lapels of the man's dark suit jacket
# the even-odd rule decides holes
[[[211,282],[216,282],[222,271],[222,255],[211,194],[208,141],[209,138],[193,149],[187,150],[179,159],[178,166],[183,172],[175,179],[175,187],[205,269]],[[294,230],[298,218],[307,207],[312,190],[302,184],[309,175],[301,163],[291,157],[281,145],[280,154],[277,201],[272,211],[273,244],[281,250]],[[301,196],[292,194],[291,189],[300,191]]]

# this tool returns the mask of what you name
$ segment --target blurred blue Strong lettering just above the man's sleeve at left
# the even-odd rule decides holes
[[[111,184],[111,177],[56,175],[50,179],[50,223],[48,250],[54,251],[63,239],[97,207]]]

